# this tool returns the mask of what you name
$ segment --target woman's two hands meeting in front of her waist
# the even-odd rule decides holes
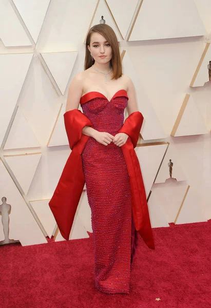
[[[124,132],[118,132],[115,136],[112,136],[112,134],[110,134],[109,132],[98,131],[94,139],[104,145],[108,145],[113,142],[117,146],[123,146],[126,143],[128,137],[128,134]]]

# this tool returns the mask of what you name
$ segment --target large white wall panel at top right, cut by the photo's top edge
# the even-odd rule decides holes
[[[193,0],[143,0],[129,41],[206,35]]]

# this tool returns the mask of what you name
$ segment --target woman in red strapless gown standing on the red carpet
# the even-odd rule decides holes
[[[79,104],[83,113],[78,110]],[[125,108],[129,115],[126,124]],[[128,76],[122,74],[116,34],[106,24],[95,25],[89,30],[86,39],[85,71],[77,74],[69,86],[64,118],[72,149],[71,165],[68,167],[67,162],[65,169],[71,170],[71,173],[77,176],[78,172],[73,171],[73,168],[76,168],[76,162],[80,166],[80,156],[91,208],[95,287],[104,293],[128,294],[130,268],[137,247],[137,230],[141,229],[138,227],[140,221],[141,224],[146,222],[142,225],[140,234],[144,234],[143,238],[150,248],[155,247],[140,166],[133,149],[138,141],[143,116],[138,111],[133,83]],[[82,140],[85,138],[83,143]],[[131,169],[132,164],[136,165],[135,171]],[[134,171],[133,174],[131,170]],[[67,180],[69,174],[70,172],[63,171],[60,182],[79,182],[75,177]],[[136,174],[139,176],[140,184],[137,184]],[[134,204],[139,196],[135,195],[135,185],[139,185],[139,190],[142,187],[141,198],[145,201],[144,204],[140,201],[143,206],[139,203],[136,209]],[[73,198],[73,194],[69,194],[70,189],[67,194],[62,192],[63,187],[67,186],[66,183],[59,188],[58,186],[54,192],[56,196],[61,198],[62,195],[68,195],[69,198]],[[77,201],[72,202],[76,207],[83,189],[83,181],[80,189],[71,189],[74,197],[75,191],[80,191]],[[56,202],[59,200],[56,196],[54,200],[51,199],[49,205],[61,230],[64,223],[63,217],[60,216],[60,219],[55,211]],[[63,199],[62,203],[66,201]],[[137,230],[133,223],[132,205]],[[68,239],[68,236],[64,237]]]

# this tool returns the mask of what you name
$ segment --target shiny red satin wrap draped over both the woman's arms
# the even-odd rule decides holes
[[[93,125],[86,115],[78,109],[65,112],[64,121],[72,151],[49,202],[49,207],[62,236],[68,240],[75,211],[85,184],[81,153],[89,137],[82,133],[82,129],[84,126],[93,127]],[[139,160],[134,150],[138,142],[142,123],[143,115],[141,112],[135,111],[125,120],[119,132],[125,132],[129,136],[121,148],[130,179],[133,221],[136,230],[147,246],[155,249],[144,182]]]

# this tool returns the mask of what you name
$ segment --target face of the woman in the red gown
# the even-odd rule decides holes
[[[108,63],[112,58],[112,48],[106,38],[98,32],[91,34],[90,46],[87,46],[94,60],[100,64]],[[104,57],[100,57],[105,55]]]

